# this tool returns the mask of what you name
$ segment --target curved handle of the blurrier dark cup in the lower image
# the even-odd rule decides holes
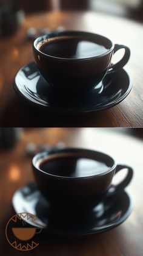
[[[133,177],[133,169],[127,165],[117,165],[115,174],[121,171],[122,169],[128,169],[127,176],[118,185],[111,185],[111,187],[108,190],[109,193],[115,193],[115,192],[124,190],[124,188],[127,187],[127,185],[130,183]]]

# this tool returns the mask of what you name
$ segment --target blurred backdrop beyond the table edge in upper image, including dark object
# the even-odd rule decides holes
[[[142,0],[0,0],[0,34],[13,34],[24,15],[57,10],[90,10],[143,21]]]

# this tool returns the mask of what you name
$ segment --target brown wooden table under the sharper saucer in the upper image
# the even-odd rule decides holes
[[[13,90],[13,77],[19,68],[33,61],[32,42],[28,40],[28,27],[87,30],[102,34],[115,43],[131,49],[130,61],[125,69],[133,80],[133,89],[121,104],[110,110],[84,116],[48,113],[28,104]],[[142,24],[92,12],[51,12],[30,15],[24,26],[12,37],[1,38],[0,51],[0,123],[1,126],[52,126],[52,127],[142,127]]]

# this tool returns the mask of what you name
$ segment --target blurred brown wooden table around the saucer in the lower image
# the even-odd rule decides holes
[[[121,132],[122,131],[122,132]],[[129,131],[129,129],[128,129]],[[5,239],[5,225],[15,212],[11,200],[15,191],[33,181],[31,160],[25,152],[29,142],[48,143],[55,146],[59,141],[75,146],[107,152],[117,163],[133,167],[135,175],[126,191],[133,201],[133,212],[121,226],[105,233],[84,237],[39,236],[39,246],[29,252],[32,255],[50,256],[142,256],[142,138],[133,137],[127,130],[118,129],[27,129],[11,151],[0,154],[0,251],[6,255],[29,255],[13,249]],[[130,131],[131,132],[131,131]],[[141,130],[140,130],[141,132]],[[138,131],[139,133],[139,131]],[[143,133],[143,130],[142,130]],[[41,233],[42,234],[42,233]],[[30,254],[30,255],[31,255]]]

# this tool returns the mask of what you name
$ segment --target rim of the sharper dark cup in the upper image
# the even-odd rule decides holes
[[[37,48],[38,42],[44,41],[45,39],[47,40],[48,36],[53,35],[53,37],[58,37],[58,36],[61,36],[61,35],[72,35],[72,34],[83,34],[83,35],[92,35],[94,37],[100,37],[103,40],[106,40],[106,41],[110,42],[111,47],[110,47],[110,49],[107,50],[107,52],[104,52],[104,54],[97,55],[97,56],[92,56],[92,57],[86,57],[86,58],[78,58],[78,59],[62,58],[62,57],[56,57],[56,56],[53,56],[53,55],[48,55],[48,54],[45,54],[44,52],[40,51]],[[104,57],[105,55],[109,54],[110,52],[112,52],[114,48],[115,48],[115,44],[110,39],[108,39],[107,37],[104,37],[103,35],[91,33],[91,32],[79,31],[79,30],[65,30],[65,31],[60,31],[60,32],[51,32],[51,33],[39,36],[33,42],[33,49],[36,52],[38,52],[38,54],[41,54],[43,57],[48,57],[48,58],[52,58],[52,59],[55,59],[55,60],[65,60],[65,61],[68,60],[70,62],[73,62],[73,61],[74,62],[75,61],[79,62],[79,61],[84,61],[84,60],[99,59],[99,58]]]

